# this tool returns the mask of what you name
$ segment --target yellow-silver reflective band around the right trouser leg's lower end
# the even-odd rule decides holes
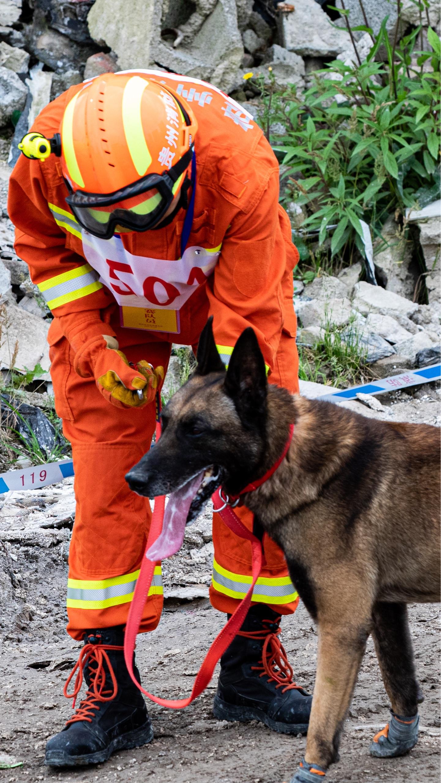
[[[227,571],[213,561],[211,584],[218,593],[232,598],[244,598],[251,582],[251,576]],[[259,576],[251,600],[262,604],[291,604],[297,598],[298,592],[289,576]]]

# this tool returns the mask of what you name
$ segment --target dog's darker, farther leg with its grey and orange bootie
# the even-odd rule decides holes
[[[374,737],[373,756],[402,756],[418,740],[418,703],[423,695],[415,676],[406,604],[378,603],[372,637],[381,676],[391,700],[392,719]]]

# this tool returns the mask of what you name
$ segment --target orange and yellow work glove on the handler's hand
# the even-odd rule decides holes
[[[164,368],[154,370],[143,359],[135,369],[118,348],[114,337],[92,337],[75,354],[74,370],[83,378],[94,377],[99,391],[112,405],[142,408],[154,401]]]

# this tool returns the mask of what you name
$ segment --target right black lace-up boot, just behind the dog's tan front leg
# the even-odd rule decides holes
[[[213,712],[219,720],[260,720],[281,734],[308,731],[313,697],[293,681],[278,634],[280,615],[253,604],[221,658]]]

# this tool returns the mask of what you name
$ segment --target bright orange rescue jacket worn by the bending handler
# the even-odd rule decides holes
[[[102,334],[103,311],[116,325],[121,309],[125,325],[136,327],[127,330],[127,343],[142,342],[145,335],[146,341],[190,345],[198,339],[195,324],[200,330],[201,316],[212,314],[226,363],[237,337],[251,325],[271,369],[282,328],[295,335],[292,269],[298,261],[289,219],[278,204],[273,151],[248,113],[212,85],[159,71],[137,73],[182,94],[199,126],[194,219],[184,254],[190,250],[195,265],[189,267],[187,259],[185,296],[175,309],[173,283],[183,280],[183,210],[163,228],[96,242],[81,233],[65,201],[60,161],[53,155],[46,161],[21,156],[10,178],[9,215],[16,226],[16,252],[56,316],[50,341],[65,334],[78,347],[86,324],[89,337],[91,326]],[[33,129],[46,136],[58,132],[64,108],[79,90],[75,85],[46,106]],[[197,265],[198,254],[204,266]],[[145,265],[144,294],[151,302],[142,317],[124,306],[125,296],[133,293],[135,263],[138,269]],[[112,333],[107,327],[106,334]]]

